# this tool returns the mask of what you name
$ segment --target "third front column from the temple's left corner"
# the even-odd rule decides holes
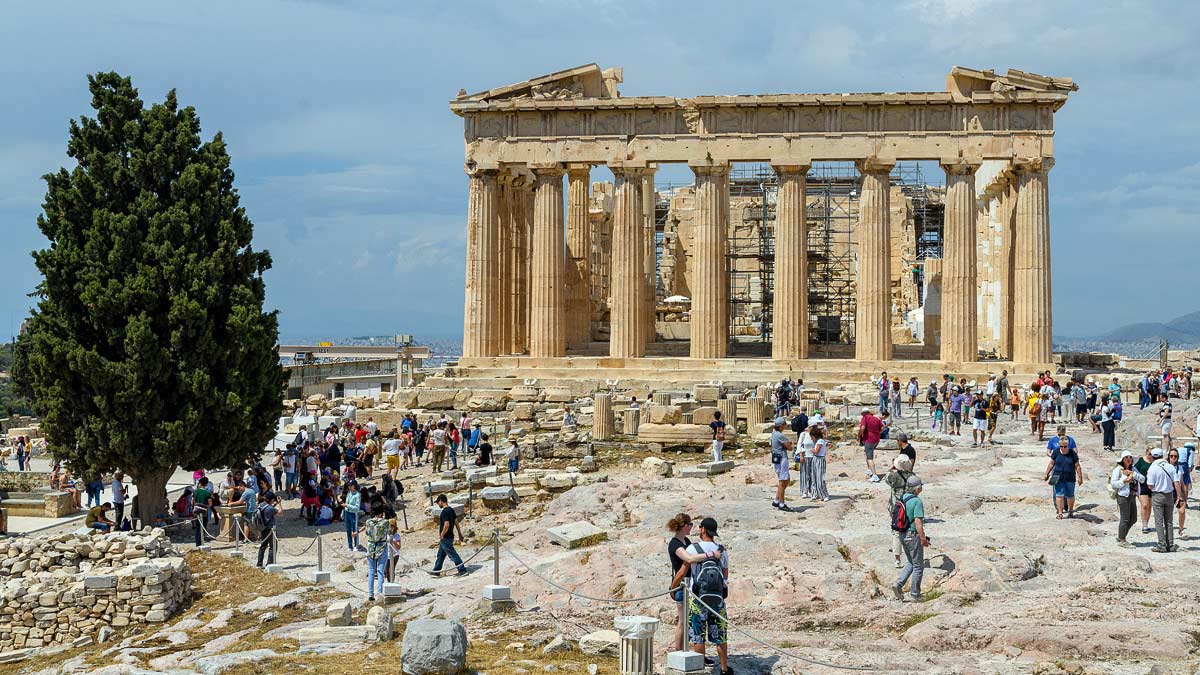
[[[646,341],[640,329],[644,316],[642,262],[646,213],[642,207],[642,179],[646,167],[610,167],[616,178],[612,210],[612,263],[608,268],[611,294],[608,356],[638,358],[646,354]]]

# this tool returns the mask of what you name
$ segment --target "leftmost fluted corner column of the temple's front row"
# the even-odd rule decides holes
[[[494,357],[500,348],[498,172],[476,169],[469,183],[462,356]]]

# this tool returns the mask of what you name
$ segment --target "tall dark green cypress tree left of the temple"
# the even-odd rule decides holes
[[[263,311],[266,251],[239,205],[218,132],[200,141],[175,91],[149,108],[130,78],[88,78],[76,166],[44,177],[43,279],[14,380],[56,459],[124,470],[143,522],[176,467],[233,466],[275,434],[284,376]]]

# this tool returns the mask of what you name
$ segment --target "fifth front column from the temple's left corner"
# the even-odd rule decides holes
[[[773,359],[809,358],[808,223],[804,219],[808,165],[775,166],[775,307]]]

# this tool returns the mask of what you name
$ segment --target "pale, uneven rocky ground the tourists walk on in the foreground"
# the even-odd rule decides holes
[[[1176,411],[1182,419],[1194,420],[1198,407],[1200,401],[1193,401],[1177,405]],[[410,531],[404,536],[401,583],[410,595],[389,608],[396,615],[397,632],[402,633],[402,625],[413,619],[462,621],[472,640],[469,668],[493,675],[551,668],[584,673],[593,664],[599,673],[608,673],[616,671],[616,659],[580,655],[578,640],[611,628],[618,615],[641,614],[662,621],[655,639],[661,664],[674,629],[674,607],[668,599],[619,604],[584,601],[540,577],[594,597],[637,598],[661,592],[670,581],[670,533],[664,525],[671,515],[685,510],[697,519],[712,515],[719,520],[720,540],[732,558],[730,616],[754,638],[774,646],[733,632],[732,664],[739,675],[848,671],[794,656],[874,673],[1196,671],[1200,628],[1192,617],[1200,601],[1195,591],[1200,581],[1200,542],[1192,532],[1200,532],[1200,520],[1178,539],[1178,554],[1150,552],[1154,534],[1144,534],[1140,527],[1129,536],[1136,548],[1121,549],[1115,542],[1115,503],[1104,486],[1116,455],[1099,450],[1099,436],[1088,425],[1070,428],[1081,446],[1085,467],[1078,518],[1056,520],[1049,488],[1040,480],[1046,464],[1044,443],[1030,437],[1025,419],[1003,420],[996,435],[998,443],[990,448],[971,448],[968,431],[961,437],[930,431],[928,416],[922,419],[919,430],[911,418],[901,420],[901,425],[914,431],[917,472],[928,483],[923,497],[932,546],[926,551],[926,602],[899,603],[887,592],[896,573],[888,550],[887,488],[864,479],[857,447],[840,443],[830,453],[830,502],[802,502],[793,489],[791,502],[799,513],[770,508],[774,478],[763,450],[727,452],[736,467],[712,478],[661,477],[643,470],[647,453],[611,450],[596,456],[600,471],[608,476],[606,482],[524,498],[511,512],[490,513],[476,504],[466,519],[463,530],[469,540],[460,544],[464,556],[484,546],[493,530],[500,531],[509,551],[502,554],[500,578],[512,586],[517,607],[504,614],[480,610],[482,586],[492,578],[490,548],[472,561],[472,573],[464,578],[433,578],[419,569],[428,567],[434,554],[434,524],[419,488],[431,476],[426,467],[404,472]],[[835,429],[835,436],[844,432]],[[1132,411],[1118,444],[1140,449],[1152,432],[1150,411]],[[692,453],[662,456],[676,462],[674,476],[683,466],[708,459]],[[881,450],[881,472],[892,456],[894,450]],[[1200,515],[1192,509],[1189,518]],[[550,543],[547,528],[577,521],[601,527],[607,540],[574,550]],[[314,531],[299,521],[295,509],[286,510],[281,522],[282,577],[305,580],[316,566]],[[324,531],[323,543],[325,568],[334,569],[332,589],[288,583],[284,595],[300,592],[305,599],[301,607],[313,607],[319,616],[325,598],[332,601],[335,595],[347,593],[355,611],[365,614],[361,554],[346,550],[340,524]],[[244,549],[252,552],[248,545]],[[223,550],[215,546],[212,555]],[[529,563],[532,571],[516,557]],[[203,579],[203,571],[197,573]],[[228,595],[217,597],[238,595],[230,598],[229,607],[254,602],[262,607],[252,605],[256,609],[245,614],[245,620],[234,621],[230,634],[236,633],[234,628],[245,631],[242,623],[257,622],[263,608],[275,607],[270,598],[283,597],[277,596],[283,587],[252,587],[242,595],[236,583],[233,585],[222,587]],[[185,610],[173,625],[194,620],[193,615],[204,610],[203,605]],[[288,611],[295,616],[280,616],[272,623],[278,631],[272,635],[281,640],[287,639],[288,622],[312,621],[294,605]],[[47,657],[0,671],[85,673],[96,670],[103,658],[114,659],[104,670],[114,675],[142,668],[190,669],[191,659],[204,652],[259,647],[257,640],[242,638],[214,644],[226,638],[221,631],[203,635],[166,633],[150,641],[157,649],[144,656],[131,651],[138,649],[142,638],[119,635],[124,640],[114,644],[125,646],[108,651],[114,644],[103,645],[106,652],[101,653],[107,657]],[[264,638],[266,633],[248,635]],[[158,646],[170,645],[172,638],[178,641],[174,649]],[[395,671],[392,657],[398,655],[398,643],[382,651],[368,649],[353,662],[346,662],[352,658],[348,656],[295,656],[287,653],[292,649],[274,646],[277,656],[264,655],[253,663],[221,671],[299,668],[322,673],[326,667],[330,671],[346,671],[347,667]],[[547,647],[552,651],[544,655]],[[178,655],[187,649],[200,652],[186,655],[180,662]],[[322,661],[330,658],[335,661]]]

